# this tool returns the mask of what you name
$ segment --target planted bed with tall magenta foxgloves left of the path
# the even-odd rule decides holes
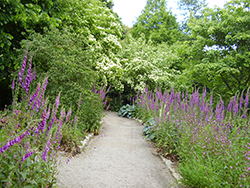
[[[0,187],[53,187],[60,146],[67,144],[71,148],[70,159],[78,139],[87,131],[99,128],[100,123],[93,120],[101,119],[106,99],[105,87],[96,91],[93,94],[96,98],[88,102],[92,104],[89,112],[95,116],[85,121],[92,124],[88,128],[79,125],[81,113],[78,112],[84,106],[83,97],[77,102],[78,110],[74,115],[71,108],[66,112],[66,107],[60,105],[60,92],[55,103],[51,103],[45,95],[48,77],[38,84],[34,82],[39,78],[28,54],[27,51],[12,83],[13,103],[0,114]]]

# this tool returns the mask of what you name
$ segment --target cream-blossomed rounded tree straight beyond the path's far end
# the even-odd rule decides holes
[[[154,89],[170,88],[174,85],[179,70],[176,70],[178,56],[166,44],[158,47],[152,41],[146,42],[142,34],[134,39],[128,35],[122,42],[123,49],[119,54],[123,75],[120,82],[124,88],[123,95],[129,99],[146,87]]]

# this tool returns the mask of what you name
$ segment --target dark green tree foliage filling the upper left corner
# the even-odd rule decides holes
[[[12,73],[18,68],[17,54],[20,41],[32,31],[43,33],[44,29],[59,27],[64,18],[67,2],[57,0],[3,0],[0,4],[0,105],[10,103]]]

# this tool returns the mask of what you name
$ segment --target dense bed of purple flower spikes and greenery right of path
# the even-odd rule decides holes
[[[236,93],[228,105],[213,94],[146,90],[137,99],[137,115],[155,134],[165,155],[179,159],[181,182],[188,187],[249,187],[249,89]]]

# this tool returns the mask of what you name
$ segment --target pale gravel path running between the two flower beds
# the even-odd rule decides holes
[[[68,164],[63,159],[59,187],[170,187],[175,180],[143,139],[143,126],[117,113],[106,113],[100,135]]]

